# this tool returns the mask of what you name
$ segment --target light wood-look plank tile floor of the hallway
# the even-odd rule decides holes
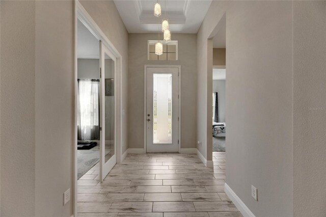
[[[196,154],[129,154],[99,181],[95,165],[78,180],[78,216],[242,216],[224,193],[225,152],[214,168]]]

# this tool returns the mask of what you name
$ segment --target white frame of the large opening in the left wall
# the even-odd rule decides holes
[[[78,83],[77,83],[77,26],[78,20],[81,21],[86,28],[112,52],[112,54],[117,58],[117,163],[123,160],[122,153],[122,56],[116,47],[111,43],[110,40],[105,36],[96,22],[93,20],[91,15],[86,11],[86,9],[80,4],[78,0],[73,1],[73,214],[77,216],[77,93],[78,93]],[[100,73],[100,72],[99,72]]]

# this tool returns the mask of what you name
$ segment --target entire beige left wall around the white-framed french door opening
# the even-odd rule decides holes
[[[122,55],[126,111],[127,31],[113,1],[82,5]],[[1,2],[2,216],[72,214],[73,20],[72,1]]]

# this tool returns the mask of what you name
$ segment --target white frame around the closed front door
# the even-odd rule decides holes
[[[178,68],[178,152],[181,151],[181,65],[145,65],[144,66],[144,153],[147,152],[147,68]]]

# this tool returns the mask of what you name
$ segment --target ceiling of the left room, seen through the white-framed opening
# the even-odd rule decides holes
[[[99,40],[78,20],[77,57],[83,59],[99,59]]]

